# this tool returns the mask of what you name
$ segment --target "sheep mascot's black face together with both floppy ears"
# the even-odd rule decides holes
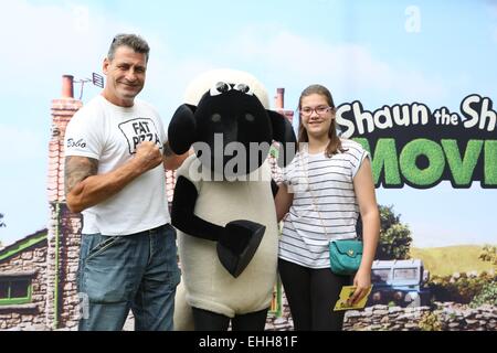
[[[197,107],[177,109],[168,138],[175,153],[193,146],[203,168],[229,180],[258,169],[273,140],[296,141],[289,121],[266,110],[247,85],[223,82],[207,92]]]

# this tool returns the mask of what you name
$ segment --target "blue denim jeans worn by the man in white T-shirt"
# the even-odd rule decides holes
[[[121,330],[130,309],[135,330],[172,330],[179,281],[170,224],[125,236],[82,235],[80,330]]]

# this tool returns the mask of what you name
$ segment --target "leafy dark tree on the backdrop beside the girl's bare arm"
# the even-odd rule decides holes
[[[408,259],[412,243],[409,226],[400,222],[401,215],[394,214],[393,205],[380,205],[379,208],[381,228],[376,259]]]

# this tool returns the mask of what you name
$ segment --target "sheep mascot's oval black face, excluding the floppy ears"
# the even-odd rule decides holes
[[[266,109],[248,86],[218,83],[203,95],[194,116],[198,135],[193,149],[204,167],[231,178],[262,165],[273,128]]]

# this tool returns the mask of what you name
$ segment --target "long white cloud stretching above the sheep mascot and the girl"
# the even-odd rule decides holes
[[[395,68],[377,58],[363,45],[331,44],[274,28],[247,28],[216,53],[231,60],[260,62],[272,76],[290,77],[293,83],[329,83],[330,88],[379,92],[409,99],[442,100],[447,96],[442,79],[420,71]],[[302,86],[303,87],[303,86]]]

